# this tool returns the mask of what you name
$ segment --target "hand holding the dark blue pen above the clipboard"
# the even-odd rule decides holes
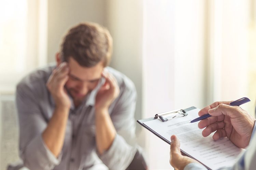
[[[230,101],[231,102],[231,101]],[[198,123],[204,137],[213,135],[214,140],[228,137],[237,147],[248,146],[255,119],[239,106],[230,106],[230,102],[215,102],[198,112],[199,116],[209,113],[212,117]]]

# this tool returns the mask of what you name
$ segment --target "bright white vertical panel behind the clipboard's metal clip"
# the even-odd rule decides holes
[[[144,118],[174,109],[174,1],[144,1]],[[170,145],[144,130],[149,169],[171,169]]]

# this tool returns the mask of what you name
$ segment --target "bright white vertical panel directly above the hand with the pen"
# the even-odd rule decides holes
[[[209,3],[208,104],[247,97],[248,91],[248,1]],[[250,94],[249,94],[250,97]],[[255,96],[251,98],[254,101]],[[242,107],[253,108],[250,102]]]

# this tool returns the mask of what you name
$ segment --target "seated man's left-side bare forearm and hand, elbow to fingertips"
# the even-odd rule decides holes
[[[63,62],[57,67],[46,83],[55,101],[55,109],[42,137],[47,148],[58,157],[62,149],[68,121],[70,99],[64,86],[68,80],[68,66]]]

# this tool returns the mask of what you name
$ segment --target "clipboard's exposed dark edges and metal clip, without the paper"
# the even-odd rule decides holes
[[[152,132],[154,135],[156,135],[157,137],[159,137],[160,139],[162,139],[163,141],[165,141],[166,143],[168,143],[169,145],[171,145],[171,142],[169,140],[167,140],[166,138],[162,137],[161,135],[159,135],[157,132],[155,132],[154,130],[152,130],[151,128],[149,128],[148,126],[146,126],[144,124],[144,122],[147,121],[151,121],[151,120],[155,120],[155,119],[160,119],[161,121],[168,121],[170,119],[173,119],[175,117],[181,117],[181,116],[186,116],[186,113],[196,109],[196,107],[192,106],[186,109],[178,109],[178,110],[174,110],[174,111],[169,111],[169,112],[165,112],[165,113],[160,113],[160,114],[156,114],[155,117],[151,117],[151,118],[147,118],[147,119],[141,119],[141,120],[137,120],[137,122],[142,125],[144,128],[146,128],[147,130],[149,130],[150,132]],[[174,115],[171,118],[167,118],[170,115]],[[189,154],[187,154],[186,152],[184,152],[183,150],[181,150],[181,154],[184,156],[188,156],[190,158],[195,159],[194,157],[190,156]],[[197,159],[195,159],[197,160]],[[200,162],[200,160],[197,160],[198,162]],[[201,162],[200,162],[201,163]],[[206,166],[205,164],[201,163],[203,166],[205,166],[205,168],[211,170],[208,166]]]

